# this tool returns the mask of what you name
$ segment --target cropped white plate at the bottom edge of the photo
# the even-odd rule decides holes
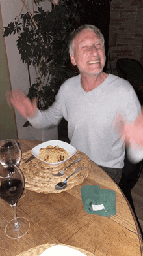
[[[48,249],[45,249],[43,253],[40,254],[40,256],[85,256],[85,253],[81,253],[81,251],[78,251],[77,249],[73,249],[68,246],[51,246]]]

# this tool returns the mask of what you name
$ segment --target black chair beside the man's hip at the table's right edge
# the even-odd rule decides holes
[[[140,174],[142,172],[143,167],[143,161],[140,161],[140,163],[133,164],[129,161],[127,158],[127,153],[125,153],[125,160],[124,160],[124,167],[122,172],[122,178],[120,180],[120,183],[118,184],[120,189],[122,189],[123,194],[129,201],[129,204],[131,205],[131,208],[133,209],[133,212],[136,217],[136,221],[138,223],[138,226],[140,228],[140,232],[143,237],[142,228],[140,227],[140,223],[138,221],[138,217],[136,216],[135,212],[135,206],[133,204],[133,198],[131,195],[131,189],[135,186],[136,182],[138,182],[138,179],[140,178]]]

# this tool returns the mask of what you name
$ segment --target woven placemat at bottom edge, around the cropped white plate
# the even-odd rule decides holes
[[[45,251],[45,249],[48,249],[51,246],[57,246],[57,245],[67,246],[66,244],[42,244],[41,246],[37,246],[37,247],[29,249],[28,251],[24,251],[23,253],[20,253],[17,256],[39,256],[41,253],[43,253]],[[87,255],[87,256],[95,256],[94,254],[92,254],[88,251],[85,251],[84,249],[73,247],[73,246],[68,246],[68,247],[77,249],[77,251],[81,251],[81,253],[85,253],[85,255]]]

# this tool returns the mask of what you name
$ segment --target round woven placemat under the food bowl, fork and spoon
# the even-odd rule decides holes
[[[66,162],[58,165],[57,167],[53,167],[40,161],[37,158],[32,159],[28,163],[25,163],[29,157],[31,157],[31,150],[24,152],[22,154],[22,159],[20,162],[19,167],[21,168],[24,176],[25,176],[25,188],[31,191],[36,191],[38,193],[60,193],[62,191],[66,191],[71,189],[75,185],[79,185],[85,180],[88,176],[88,172],[90,172],[91,163],[90,159],[87,155],[79,150],[77,153],[73,155],[70,159]],[[53,174],[60,172],[65,167],[68,167],[71,163],[73,163],[76,159],[81,158],[81,161],[75,163],[71,167],[67,168],[64,172],[63,176],[55,177]],[[71,178],[68,179],[67,187],[62,190],[56,190],[55,185],[59,182],[64,182],[70,174],[75,172],[77,168],[82,167],[79,172],[73,175]]]

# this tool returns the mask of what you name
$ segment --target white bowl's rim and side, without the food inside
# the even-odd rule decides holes
[[[68,157],[68,159],[70,159],[77,152],[77,149],[75,147],[73,147],[71,144],[68,144],[61,140],[49,140],[49,141],[43,142],[43,143],[39,144],[38,146],[32,148],[32,150],[31,150],[32,155],[34,155],[40,161],[47,163],[48,165],[53,165],[53,166],[61,165],[62,163],[64,163],[65,161],[68,160],[68,159],[65,159],[65,160],[57,162],[57,163],[49,163],[49,162],[45,162],[44,160],[40,159],[38,157],[38,153],[40,153],[40,148],[46,148],[49,145],[51,145],[53,147],[58,145],[60,148],[64,148],[64,150],[66,150],[68,152],[68,154],[70,155],[70,157]]]

